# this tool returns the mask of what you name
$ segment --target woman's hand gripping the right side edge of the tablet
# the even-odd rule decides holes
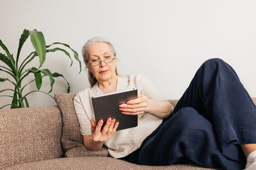
[[[148,97],[143,94],[139,94],[137,99],[119,105],[119,110],[125,115],[140,115],[147,112],[147,109]]]

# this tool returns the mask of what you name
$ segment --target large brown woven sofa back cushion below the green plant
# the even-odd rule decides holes
[[[63,157],[56,106],[0,110],[0,169]]]

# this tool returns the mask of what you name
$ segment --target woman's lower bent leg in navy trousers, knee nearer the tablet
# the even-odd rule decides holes
[[[163,166],[192,160],[205,167],[242,169],[244,164],[221,154],[212,123],[193,108],[182,108],[123,158],[143,165]]]

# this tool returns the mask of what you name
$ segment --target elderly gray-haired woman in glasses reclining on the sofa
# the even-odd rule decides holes
[[[74,106],[86,148],[105,145],[111,157],[143,165],[191,160],[205,167],[256,169],[256,107],[226,62],[205,61],[173,108],[143,74],[118,74],[115,49],[105,39],[88,40],[82,52],[91,87],[77,93]],[[92,96],[132,88],[138,98],[119,109],[138,115],[138,126],[116,131],[119,122],[109,118],[100,131],[104,122],[95,122]]]

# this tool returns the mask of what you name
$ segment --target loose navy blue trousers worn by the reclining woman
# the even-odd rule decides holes
[[[239,144],[256,143],[256,106],[236,72],[221,59],[200,66],[170,117],[123,160],[163,166],[192,160],[243,169]]]

